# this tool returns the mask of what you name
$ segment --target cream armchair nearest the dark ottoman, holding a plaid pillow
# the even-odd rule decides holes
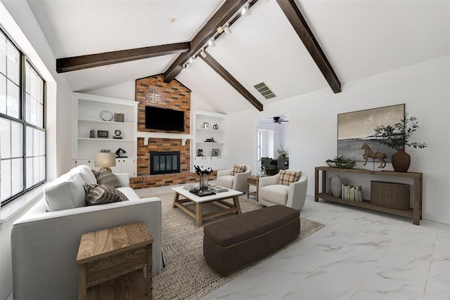
[[[280,174],[259,178],[259,203],[266,207],[284,205],[293,209],[302,209],[307,197],[307,174],[302,172],[299,180],[290,185],[281,185],[279,181]]]

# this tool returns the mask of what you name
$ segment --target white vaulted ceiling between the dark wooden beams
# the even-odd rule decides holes
[[[191,41],[223,0],[27,0],[56,58]],[[345,83],[449,54],[448,0],[295,0]],[[261,103],[330,89],[275,0],[259,0],[222,34],[214,57]],[[171,19],[175,20],[171,22]],[[89,92],[161,74],[178,55],[63,73]],[[176,79],[219,112],[252,107],[203,62]],[[253,88],[264,81],[276,98]],[[330,92],[331,89],[330,89]]]

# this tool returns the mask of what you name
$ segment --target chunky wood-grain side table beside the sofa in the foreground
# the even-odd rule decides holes
[[[82,235],[78,299],[152,299],[152,244],[143,222]]]

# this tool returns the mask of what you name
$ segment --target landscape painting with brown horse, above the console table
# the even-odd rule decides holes
[[[395,149],[380,144],[380,138],[375,137],[375,126],[394,125],[404,115],[405,105],[345,112],[338,115],[338,156],[345,156],[356,162],[365,162],[369,158],[380,160],[379,168],[384,168],[386,162],[391,162]]]

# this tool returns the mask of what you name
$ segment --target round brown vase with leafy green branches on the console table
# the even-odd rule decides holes
[[[405,147],[413,147],[423,149],[427,147],[426,143],[410,142],[410,138],[414,132],[419,129],[416,117],[408,117],[405,112],[403,119],[394,125],[376,126],[375,137],[383,138],[380,144],[387,145],[397,150],[392,155],[392,167],[396,172],[406,172],[411,164],[411,157],[405,152]]]

